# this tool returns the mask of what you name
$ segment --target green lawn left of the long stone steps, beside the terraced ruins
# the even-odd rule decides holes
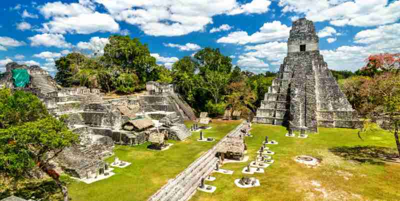
[[[168,179],[174,178],[192,161],[211,148],[220,138],[236,127],[241,121],[218,121],[210,123],[211,129],[203,131],[205,137],[215,137],[214,142],[199,142],[199,132],[184,141],[173,141],[173,145],[164,151],[149,150],[149,143],[138,146],[118,145],[114,156],[120,160],[132,162],[125,168],[115,168],[115,175],[91,184],[72,181],[68,185],[73,201],[129,201],[146,200]],[[185,124],[190,127],[192,122]],[[112,162],[114,156],[107,159]]]

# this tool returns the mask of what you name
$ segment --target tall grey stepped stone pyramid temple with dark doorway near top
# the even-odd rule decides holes
[[[318,42],[312,21],[293,21],[287,55],[257,109],[255,122],[309,132],[317,132],[318,126],[360,126],[356,111],[319,53]]]

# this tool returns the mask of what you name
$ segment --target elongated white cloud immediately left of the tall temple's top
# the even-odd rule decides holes
[[[227,36],[221,37],[218,43],[261,43],[266,41],[286,40],[289,37],[290,27],[280,23],[280,21],[266,22],[259,31],[248,35],[246,31],[235,31]]]

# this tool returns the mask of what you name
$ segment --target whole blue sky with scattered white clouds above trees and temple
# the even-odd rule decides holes
[[[0,9],[0,71],[15,61],[54,75],[54,60],[101,53],[112,34],[139,38],[168,68],[212,47],[242,70],[277,71],[300,17],[314,21],[330,69],[400,52],[400,0],[1,0]]]

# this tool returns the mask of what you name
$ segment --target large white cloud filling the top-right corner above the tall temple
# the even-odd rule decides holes
[[[400,1],[388,0],[279,0],[283,12],[305,14],[313,21],[329,20],[336,26],[374,26],[400,18]]]

